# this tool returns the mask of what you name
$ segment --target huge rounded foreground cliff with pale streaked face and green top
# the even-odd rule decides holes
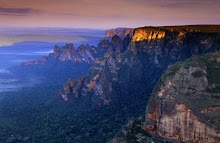
[[[177,141],[220,141],[220,53],[167,70],[148,101],[145,130]]]

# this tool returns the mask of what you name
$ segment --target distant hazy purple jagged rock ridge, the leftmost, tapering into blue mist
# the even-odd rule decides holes
[[[73,44],[66,44],[63,47],[54,47],[54,51],[50,53],[47,57],[43,57],[40,60],[23,62],[23,66],[39,65],[43,64],[47,60],[57,59],[60,62],[72,62],[72,63],[88,63],[94,62],[95,58],[102,57],[107,51],[108,47],[105,46],[104,42],[101,41],[99,48],[90,45],[80,45],[77,49]]]

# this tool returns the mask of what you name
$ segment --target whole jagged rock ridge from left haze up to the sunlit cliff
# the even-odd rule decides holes
[[[90,45],[80,45],[75,48],[72,43],[66,44],[63,47],[55,45],[54,51],[48,56],[42,57],[40,60],[23,62],[22,66],[32,66],[43,64],[50,59],[56,59],[60,62],[72,62],[76,63],[87,63],[92,64],[96,58],[101,58],[104,54],[108,52],[122,52],[125,51],[127,45],[130,43],[131,38],[126,36],[121,39],[119,36],[115,35],[112,37],[111,41],[101,40],[97,47]]]

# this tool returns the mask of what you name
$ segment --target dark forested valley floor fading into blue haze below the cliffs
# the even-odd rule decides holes
[[[119,132],[130,117],[145,112],[148,97],[134,98],[137,97],[135,90],[130,91],[132,98],[112,101],[111,105],[101,108],[92,108],[89,96],[72,102],[55,96],[69,77],[75,79],[85,74],[88,65],[43,64],[38,68],[15,70],[24,72],[17,73],[17,76],[41,76],[43,82],[39,85],[0,93],[1,97],[4,96],[0,101],[2,143],[21,143],[24,139],[27,143],[102,143]]]

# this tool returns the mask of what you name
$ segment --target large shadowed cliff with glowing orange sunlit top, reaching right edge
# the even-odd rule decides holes
[[[124,40],[116,38],[117,44],[114,40],[111,44],[114,50],[95,60],[85,77],[81,94],[96,95],[91,100],[100,105],[124,98],[131,100],[135,96],[147,101],[169,65],[191,56],[218,51],[219,38],[218,32],[192,30],[190,27],[137,28],[126,48],[121,44]]]

